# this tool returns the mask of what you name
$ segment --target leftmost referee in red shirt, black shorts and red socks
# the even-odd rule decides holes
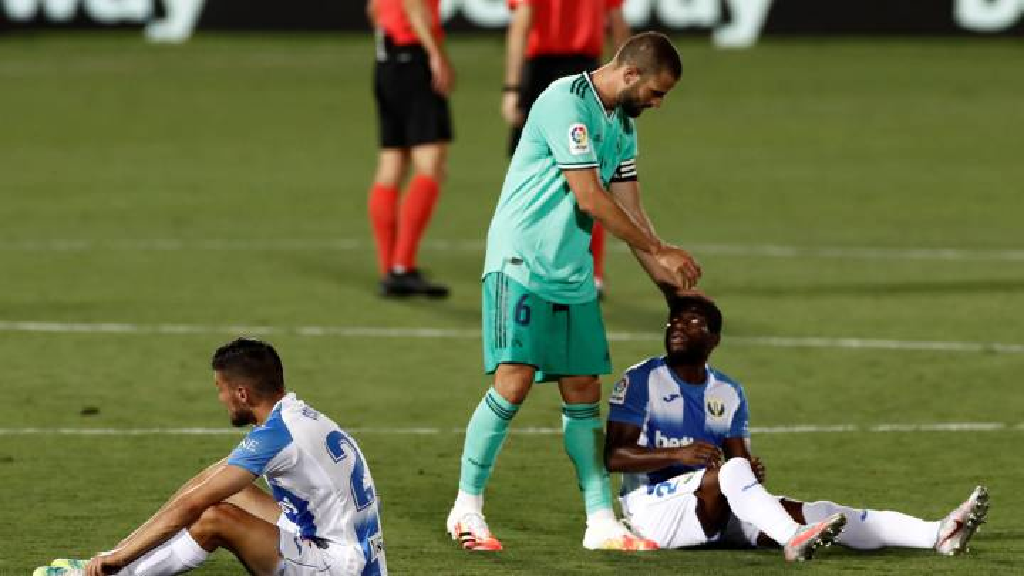
[[[377,34],[374,96],[380,129],[370,220],[377,245],[380,293],[445,298],[417,265],[420,240],[444,179],[452,119],[447,96],[455,74],[444,51],[440,0],[370,0]],[[398,189],[413,175],[399,202]]]

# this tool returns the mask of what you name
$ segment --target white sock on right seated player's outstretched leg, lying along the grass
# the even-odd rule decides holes
[[[926,522],[902,512],[855,509],[827,501],[804,504],[807,524],[821,522],[836,512],[846,516],[846,528],[836,541],[858,550],[883,546],[931,548],[939,534],[938,522]]]

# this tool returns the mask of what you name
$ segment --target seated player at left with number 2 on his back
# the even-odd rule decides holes
[[[285,394],[270,344],[240,338],[217,349],[212,364],[231,424],[254,425],[238,448],[115,549],[87,563],[54,561],[34,576],[167,576],[218,547],[257,575],[387,574],[374,483],[355,442]],[[272,498],[253,485],[259,475]]]

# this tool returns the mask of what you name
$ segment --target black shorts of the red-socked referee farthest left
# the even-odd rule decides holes
[[[452,139],[447,98],[430,86],[430,66],[422,46],[385,41],[374,69],[374,97],[381,148],[411,148]]]

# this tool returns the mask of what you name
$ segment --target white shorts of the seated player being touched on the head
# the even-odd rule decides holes
[[[725,530],[709,537],[697,518],[697,496],[703,470],[687,472],[660,484],[641,486],[620,498],[623,512],[638,536],[662,548],[686,548],[709,542],[752,545],[758,529],[729,515]]]

